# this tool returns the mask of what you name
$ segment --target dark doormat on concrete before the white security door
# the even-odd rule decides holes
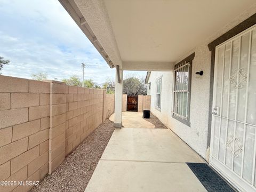
[[[209,192],[234,192],[220,175],[215,173],[211,167],[205,163],[187,163],[197,179]]]

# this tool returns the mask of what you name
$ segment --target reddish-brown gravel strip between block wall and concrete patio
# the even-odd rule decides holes
[[[51,175],[47,175],[31,191],[84,191],[113,131],[113,122],[106,119]]]

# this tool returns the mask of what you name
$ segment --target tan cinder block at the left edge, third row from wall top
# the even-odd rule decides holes
[[[28,121],[28,108],[0,111],[0,129]]]

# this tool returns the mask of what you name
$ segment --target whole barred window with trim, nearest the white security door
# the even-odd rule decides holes
[[[191,54],[174,67],[174,103],[172,116],[189,126],[191,65],[194,57],[195,53]]]

